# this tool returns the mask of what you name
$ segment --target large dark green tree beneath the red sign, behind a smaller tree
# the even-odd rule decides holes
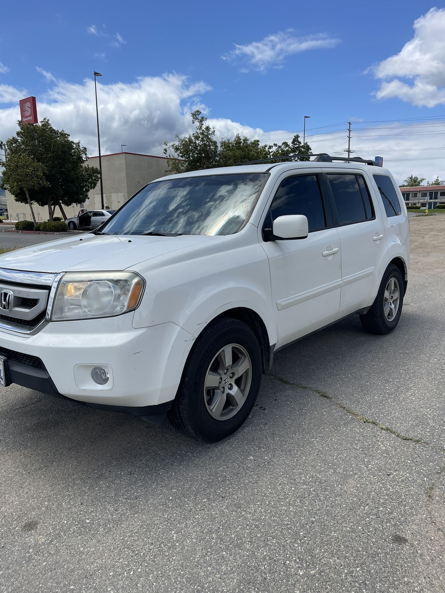
[[[53,219],[56,206],[59,206],[66,219],[63,206],[84,202],[88,192],[96,187],[100,171],[96,167],[85,166],[87,149],[69,138],[65,130],[56,130],[48,119],[39,124],[18,122],[15,136],[6,142],[8,159],[5,171],[14,155],[32,157],[43,167],[46,184],[34,187],[30,199],[39,206],[47,206],[49,219]],[[15,186],[13,193],[17,202],[26,203],[24,188]]]

